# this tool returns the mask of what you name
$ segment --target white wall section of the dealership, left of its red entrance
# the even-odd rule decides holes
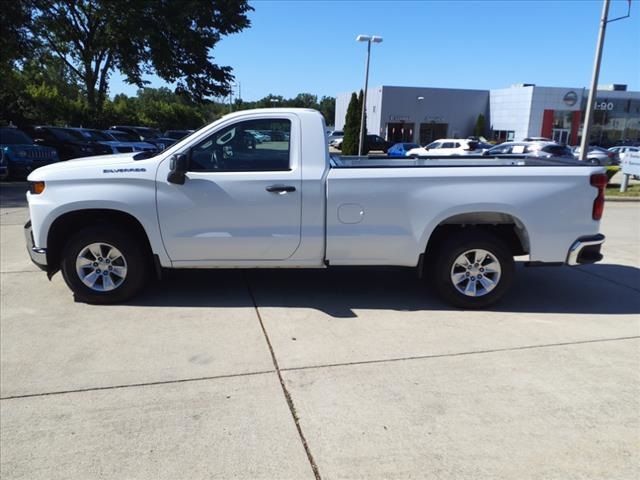
[[[533,89],[534,87],[531,86],[491,90],[489,96],[491,130],[513,130],[514,140],[522,140],[534,135],[529,133]],[[540,132],[535,134],[535,136],[538,135]]]

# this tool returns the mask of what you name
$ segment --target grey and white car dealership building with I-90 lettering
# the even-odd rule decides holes
[[[517,84],[495,90],[381,86],[367,92],[367,132],[390,141],[425,145],[466,138],[479,115],[484,136],[496,141],[547,137],[577,145],[589,91]],[[336,97],[335,128],[344,127],[351,93]],[[590,143],[640,141],[640,92],[626,85],[598,87]]]

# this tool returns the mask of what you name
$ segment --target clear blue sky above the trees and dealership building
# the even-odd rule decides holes
[[[369,86],[492,89],[516,83],[588,87],[602,0],[253,0],[251,27],[223,37],[214,62],[233,68],[243,100],[268,94],[318,97]],[[627,14],[612,0],[609,18]],[[149,87],[169,86],[150,76]],[[640,91],[640,0],[607,25],[599,84]],[[110,93],[137,87],[114,74]],[[237,87],[236,87],[237,95]]]

